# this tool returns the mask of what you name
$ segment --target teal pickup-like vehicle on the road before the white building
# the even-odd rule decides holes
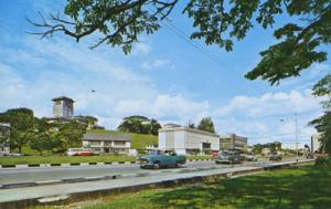
[[[181,167],[186,163],[186,157],[182,155],[148,155],[139,157],[140,168],[159,169],[163,167]]]

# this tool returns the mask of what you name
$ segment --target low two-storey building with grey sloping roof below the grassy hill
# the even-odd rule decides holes
[[[99,153],[129,153],[131,137],[128,134],[86,133],[83,147],[92,148]]]

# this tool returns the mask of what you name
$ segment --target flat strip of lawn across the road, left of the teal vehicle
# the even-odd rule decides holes
[[[17,164],[75,164],[75,163],[103,163],[103,161],[135,161],[136,157],[130,156],[22,156],[0,157],[0,165]]]

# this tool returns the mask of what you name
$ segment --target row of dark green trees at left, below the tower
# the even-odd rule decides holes
[[[23,147],[43,151],[60,153],[68,147],[82,146],[81,138],[86,132],[90,117],[77,119],[38,118],[29,108],[13,108],[0,113],[0,122],[10,124],[9,134],[0,137],[0,143],[22,153]]]

